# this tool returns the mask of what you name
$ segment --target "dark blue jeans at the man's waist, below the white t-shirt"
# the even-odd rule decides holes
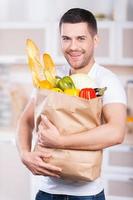
[[[92,196],[71,196],[61,194],[49,194],[39,191],[35,200],[105,200],[104,191]]]

